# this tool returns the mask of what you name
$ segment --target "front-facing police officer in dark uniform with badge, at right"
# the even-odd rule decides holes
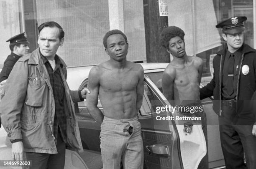
[[[213,59],[212,81],[200,89],[200,99],[214,96],[226,169],[256,169],[256,50],[243,43],[246,20],[232,17],[216,25],[226,45]]]

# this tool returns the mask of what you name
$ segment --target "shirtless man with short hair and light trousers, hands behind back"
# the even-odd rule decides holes
[[[143,169],[141,124],[137,113],[143,99],[143,68],[127,61],[127,38],[120,30],[110,30],[103,38],[110,60],[89,73],[87,108],[101,124],[100,148],[103,169]],[[104,114],[97,107],[98,96]]]

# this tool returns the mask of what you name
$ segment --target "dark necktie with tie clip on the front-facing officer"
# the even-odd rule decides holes
[[[233,93],[233,79],[234,79],[234,54],[231,54],[228,59],[228,83],[227,83],[227,89],[228,94],[231,95]]]

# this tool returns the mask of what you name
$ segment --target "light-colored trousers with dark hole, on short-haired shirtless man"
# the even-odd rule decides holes
[[[103,169],[143,169],[143,141],[137,116],[132,119],[104,117],[100,148]]]

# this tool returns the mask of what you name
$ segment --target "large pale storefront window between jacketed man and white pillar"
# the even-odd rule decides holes
[[[109,30],[108,0],[37,0],[38,25],[56,21],[65,31],[59,54],[67,66],[98,64],[108,59],[102,43]]]

